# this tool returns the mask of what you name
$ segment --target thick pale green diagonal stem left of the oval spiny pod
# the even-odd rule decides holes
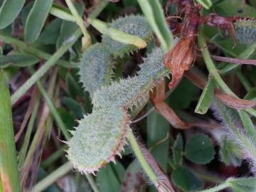
[[[41,79],[46,72],[55,65],[57,60],[75,43],[75,41],[80,37],[81,31],[78,29],[73,33],[72,36],[63,44],[54,54],[46,61],[46,63],[34,73],[31,78],[29,78],[21,87],[11,95],[11,104],[14,103],[27,91],[29,90],[37,80]],[[68,42],[69,41],[69,42]]]

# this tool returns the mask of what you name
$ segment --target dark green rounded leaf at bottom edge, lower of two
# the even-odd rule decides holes
[[[171,173],[171,181],[183,191],[196,191],[203,187],[202,181],[186,167],[178,167]]]

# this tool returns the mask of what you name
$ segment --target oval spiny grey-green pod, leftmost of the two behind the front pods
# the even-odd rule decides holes
[[[82,55],[80,64],[80,82],[92,97],[102,85],[110,85],[114,62],[105,46],[96,43]]]

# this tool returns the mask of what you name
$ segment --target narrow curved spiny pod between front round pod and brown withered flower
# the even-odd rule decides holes
[[[168,75],[163,60],[164,51],[161,48],[155,48],[144,59],[137,76],[112,82],[112,85],[102,87],[102,90],[95,92],[92,100],[95,109],[106,108],[110,105],[132,109],[140,102],[148,100],[149,91],[159,80]]]

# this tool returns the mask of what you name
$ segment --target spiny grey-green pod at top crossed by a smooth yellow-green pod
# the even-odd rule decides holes
[[[149,23],[143,16],[132,15],[125,16],[123,18],[117,18],[117,20],[110,23],[110,26],[112,26],[112,28],[117,28],[119,31],[122,31],[124,33],[139,36],[144,41],[149,41],[151,36],[153,35],[153,31],[151,30]],[[107,46],[107,49],[112,55],[114,55],[114,57],[122,57],[124,54],[132,53],[133,51],[138,49],[136,46],[114,41],[108,35],[102,36],[102,43]]]

